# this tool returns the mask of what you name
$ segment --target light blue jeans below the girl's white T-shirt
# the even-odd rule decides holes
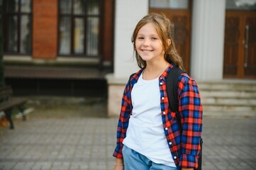
[[[143,154],[126,147],[126,145],[123,145],[123,163],[125,164],[125,170],[177,170],[176,167],[156,164]]]

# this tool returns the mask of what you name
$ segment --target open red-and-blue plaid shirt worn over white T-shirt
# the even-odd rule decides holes
[[[202,106],[199,90],[194,79],[191,79],[186,73],[179,77],[178,98],[179,98],[179,116],[182,122],[182,134],[177,123],[176,113],[169,110],[169,103],[166,89],[167,74],[174,64],[159,77],[160,105],[162,111],[162,123],[165,130],[165,136],[172,157],[178,169],[181,167],[196,168],[198,166],[197,158],[200,152],[200,139],[202,131]],[[116,149],[113,157],[123,158],[122,148],[123,139],[126,137],[129,118],[132,114],[133,106],[131,102],[131,91],[138,77],[142,74],[140,69],[126,84],[123,92],[121,113],[118,120]]]

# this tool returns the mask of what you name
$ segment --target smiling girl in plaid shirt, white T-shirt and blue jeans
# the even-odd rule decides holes
[[[182,134],[169,110],[166,78],[172,67],[183,68],[164,15],[142,18],[132,37],[140,70],[123,92],[117,128],[114,170],[194,169],[198,166],[202,107],[196,81],[182,73],[178,83]]]

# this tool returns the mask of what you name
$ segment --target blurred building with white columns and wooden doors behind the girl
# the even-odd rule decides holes
[[[64,90],[79,96],[97,87],[90,95],[107,91],[108,115],[117,115],[128,77],[138,70],[131,35],[151,12],[172,22],[179,55],[196,81],[255,84],[256,0],[3,0],[2,5],[6,79],[33,94]]]

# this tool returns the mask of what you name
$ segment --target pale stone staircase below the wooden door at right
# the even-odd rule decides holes
[[[199,81],[204,115],[256,118],[256,81]]]

